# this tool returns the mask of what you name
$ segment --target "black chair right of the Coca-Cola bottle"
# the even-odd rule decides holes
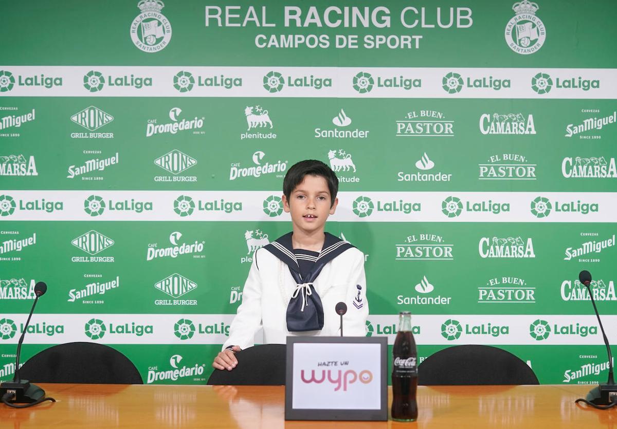
[[[503,349],[453,346],[432,354],[418,366],[419,385],[537,385],[533,370]]]

